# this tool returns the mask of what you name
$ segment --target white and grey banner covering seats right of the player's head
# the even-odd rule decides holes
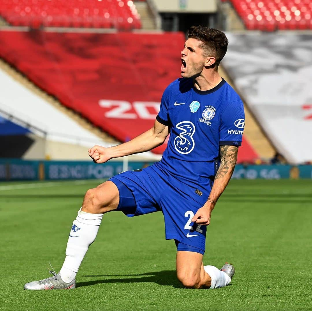
[[[312,160],[312,35],[227,33],[222,63],[276,149]]]

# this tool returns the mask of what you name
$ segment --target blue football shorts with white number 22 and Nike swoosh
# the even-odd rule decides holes
[[[211,189],[197,189],[181,183],[159,163],[120,173],[109,180],[119,190],[117,210],[128,217],[162,211],[166,239],[174,239],[178,251],[204,254],[206,226],[199,226],[191,219],[204,205]]]

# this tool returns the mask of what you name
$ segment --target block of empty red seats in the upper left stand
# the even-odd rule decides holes
[[[13,26],[141,28],[128,0],[0,0],[0,16]]]

